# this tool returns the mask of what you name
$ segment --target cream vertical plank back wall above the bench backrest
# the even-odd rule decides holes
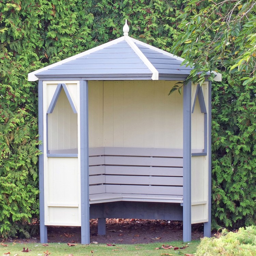
[[[182,148],[182,95],[168,96],[175,83],[89,81],[89,147]]]

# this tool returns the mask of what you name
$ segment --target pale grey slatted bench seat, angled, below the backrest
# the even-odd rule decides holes
[[[90,204],[115,202],[115,201],[183,203],[183,196],[125,194],[125,193],[100,193],[100,194],[93,194],[89,196]]]

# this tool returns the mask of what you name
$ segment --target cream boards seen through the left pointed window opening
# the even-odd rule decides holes
[[[53,113],[48,114],[48,149],[77,148],[77,132],[77,114],[73,112],[62,89]]]

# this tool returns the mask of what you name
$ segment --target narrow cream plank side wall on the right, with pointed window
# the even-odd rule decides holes
[[[193,85],[194,89],[197,85]],[[193,89],[192,87],[192,89]],[[204,102],[209,118],[208,82],[202,85]],[[194,101],[192,94],[192,101]],[[192,103],[193,104],[193,103]],[[191,115],[191,139],[193,149],[204,149],[204,113],[201,113],[198,99]],[[208,127],[209,129],[209,127]],[[209,141],[209,140],[208,140]],[[207,148],[205,148],[207,151]],[[191,159],[191,223],[208,221],[208,155],[193,156]]]

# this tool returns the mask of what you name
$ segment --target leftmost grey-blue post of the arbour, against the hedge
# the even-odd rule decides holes
[[[39,140],[43,142],[43,81],[38,82],[38,133]],[[39,145],[42,152],[39,155],[39,219],[40,219],[40,242],[47,243],[47,226],[44,225],[44,146]]]

